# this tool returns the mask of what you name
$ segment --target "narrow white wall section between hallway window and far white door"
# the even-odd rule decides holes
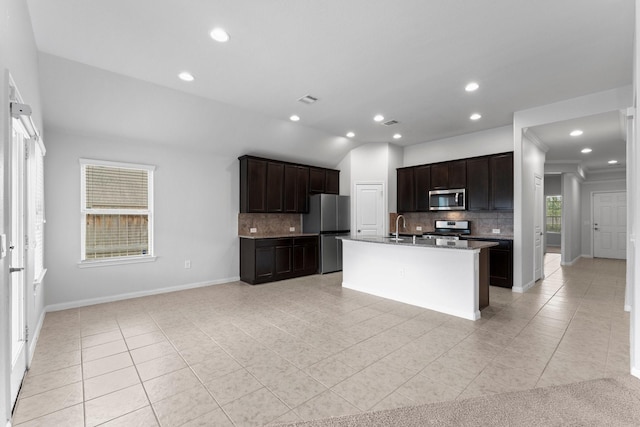
[[[582,204],[580,178],[562,175],[562,263],[573,264],[582,255]]]

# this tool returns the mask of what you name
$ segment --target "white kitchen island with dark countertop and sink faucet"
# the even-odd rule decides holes
[[[342,286],[470,320],[489,304],[495,242],[343,237]]]

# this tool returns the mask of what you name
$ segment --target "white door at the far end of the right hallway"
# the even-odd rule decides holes
[[[627,258],[627,193],[594,193],[593,256]]]

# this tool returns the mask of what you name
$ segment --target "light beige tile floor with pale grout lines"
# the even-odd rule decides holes
[[[476,322],[339,273],[48,313],[13,422],[262,425],[628,373],[625,262],[549,254],[545,272],[492,287]]]

